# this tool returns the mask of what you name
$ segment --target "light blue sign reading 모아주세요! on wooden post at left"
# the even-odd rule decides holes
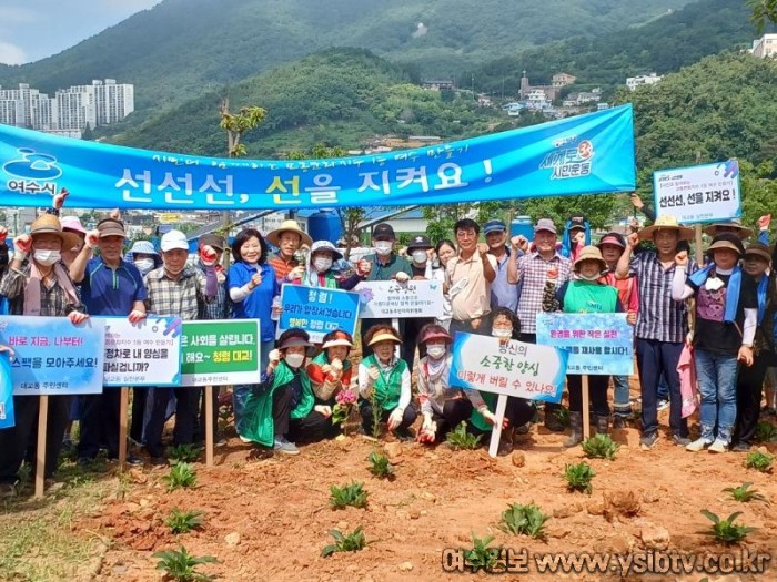
[[[105,326],[67,317],[0,316],[0,344],[13,349],[17,396],[102,392]]]

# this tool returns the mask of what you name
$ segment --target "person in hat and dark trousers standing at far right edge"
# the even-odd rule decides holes
[[[775,315],[777,315],[777,285],[769,272],[769,247],[753,243],[745,249],[743,270],[756,285],[757,321],[753,366],[739,364],[737,372],[737,420],[731,442],[733,451],[747,452],[758,426],[760,399],[766,370],[777,365]]]

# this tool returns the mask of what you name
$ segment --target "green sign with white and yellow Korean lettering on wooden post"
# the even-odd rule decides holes
[[[184,321],[181,386],[258,384],[259,319]]]

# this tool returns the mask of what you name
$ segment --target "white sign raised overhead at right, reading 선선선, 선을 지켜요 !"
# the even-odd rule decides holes
[[[685,224],[741,216],[739,163],[659,170],[653,173],[656,216],[670,214]]]

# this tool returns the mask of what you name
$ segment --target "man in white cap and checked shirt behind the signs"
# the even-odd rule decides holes
[[[196,267],[186,265],[189,242],[180,231],[165,233],[160,247],[164,264],[145,276],[147,312],[162,317],[180,317],[184,321],[196,319],[202,304],[214,299],[214,295],[208,295],[215,285],[214,272],[205,276]],[[194,442],[200,388],[152,388],[147,399],[150,410],[145,421],[145,450],[154,464],[167,462],[162,432],[171,392],[178,402],[173,442],[176,446]]]

